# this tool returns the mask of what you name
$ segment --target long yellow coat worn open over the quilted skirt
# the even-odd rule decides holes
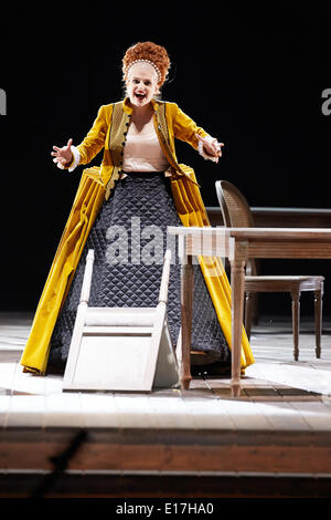
[[[172,166],[171,189],[178,215],[183,226],[210,226],[192,168],[178,164],[174,138],[197,148],[195,134],[207,133],[185,115],[175,103],[152,101],[153,119],[160,145]],[[57,315],[66,298],[75,269],[86,243],[90,228],[106,198],[111,194],[121,174],[122,148],[131,116],[128,100],[103,105],[93,127],[77,147],[81,162],[86,165],[104,148],[100,167],[83,171],[77,194],[63,231],[55,258],[46,279],[32,329],[22,354],[24,371],[46,372],[50,340]],[[200,266],[209,288],[215,311],[231,346],[231,287],[217,258],[201,257]],[[209,275],[211,266],[218,275]],[[254,363],[253,353],[243,329],[242,367]]]

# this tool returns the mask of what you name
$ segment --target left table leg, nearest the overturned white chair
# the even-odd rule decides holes
[[[193,267],[192,257],[181,267],[181,313],[182,313],[182,366],[181,386],[190,388],[191,376],[191,335],[193,305]]]

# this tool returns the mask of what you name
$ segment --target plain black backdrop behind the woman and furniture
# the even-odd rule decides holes
[[[225,143],[218,165],[178,143],[206,206],[217,206],[214,183],[223,178],[250,206],[330,208],[331,115],[321,111],[331,87],[327,3],[33,6],[9,6],[1,19],[0,310],[35,309],[83,170],[57,169],[52,146],[70,137],[79,144],[99,106],[122,97],[121,58],[137,41],[170,54],[163,100]],[[331,275],[327,261],[278,266]],[[288,305],[273,300],[264,310],[287,313]],[[327,313],[328,305],[327,283]]]

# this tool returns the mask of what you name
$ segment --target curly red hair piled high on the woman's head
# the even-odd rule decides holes
[[[167,80],[168,70],[170,67],[170,59],[167,50],[162,45],[157,45],[153,42],[138,42],[131,45],[122,59],[124,79],[127,79],[127,72],[130,64],[136,60],[149,60],[160,71],[161,79],[158,82],[162,86]]]

